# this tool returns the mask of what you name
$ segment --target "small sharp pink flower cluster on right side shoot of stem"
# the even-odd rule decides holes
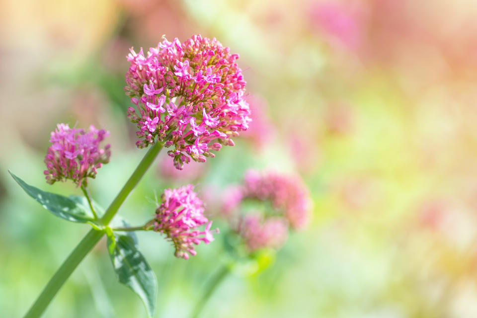
[[[189,184],[164,190],[154,224],[154,231],[164,234],[174,244],[174,255],[184,259],[189,258],[189,253],[197,253],[194,244],[200,241],[208,244],[214,240],[212,233],[219,233],[219,229],[210,230],[212,221],[204,216],[203,203],[193,189]],[[204,231],[197,230],[204,224],[207,224]]]

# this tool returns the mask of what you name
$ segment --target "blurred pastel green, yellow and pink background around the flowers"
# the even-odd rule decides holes
[[[301,174],[314,201],[308,228],[229,275],[202,317],[477,317],[476,18],[474,0],[1,1],[0,316],[21,317],[88,231],[7,169],[80,194],[46,184],[49,132],[105,127],[113,155],[90,187],[107,206],[144,155],[126,118],[128,48],[200,33],[240,54],[258,124],[179,177],[162,154],[121,214],[141,224],[155,192],[185,182],[220,199],[249,168]],[[184,261],[139,233],[157,317],[188,317],[223,262],[216,238]],[[104,241],[44,315],[145,316]]]

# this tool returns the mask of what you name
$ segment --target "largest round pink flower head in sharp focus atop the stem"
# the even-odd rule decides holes
[[[238,54],[214,39],[194,35],[180,43],[164,39],[147,54],[131,49],[126,94],[136,107],[128,117],[137,124],[136,145],[164,142],[182,169],[190,158],[204,162],[232,137],[248,128],[250,110]]]

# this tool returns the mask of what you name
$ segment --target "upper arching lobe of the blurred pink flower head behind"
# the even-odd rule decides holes
[[[308,222],[311,199],[307,187],[297,176],[248,171],[242,188],[243,199],[270,201],[293,229],[300,229]]]

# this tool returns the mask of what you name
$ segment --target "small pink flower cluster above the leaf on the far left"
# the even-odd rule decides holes
[[[97,130],[94,126],[89,131],[70,128],[67,124],[58,124],[51,133],[44,171],[46,182],[73,180],[78,186],[86,185],[87,178],[96,177],[97,169],[109,162],[110,145],[99,148],[109,132]]]

